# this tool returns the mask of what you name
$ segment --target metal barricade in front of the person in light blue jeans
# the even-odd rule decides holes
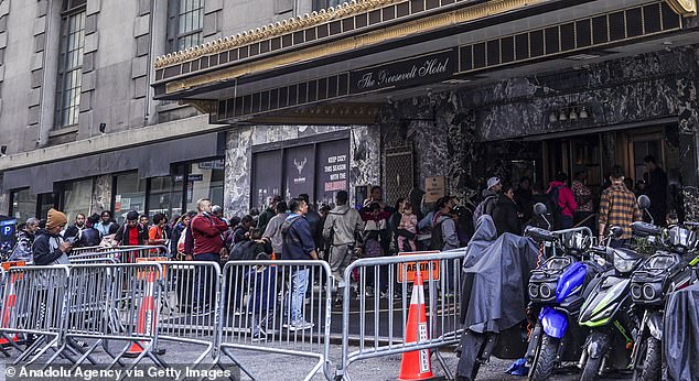
[[[331,380],[330,329],[333,279],[324,261],[232,261],[223,271],[215,363],[232,360],[252,372],[232,349],[316,359]],[[305,290],[305,291],[304,291]]]

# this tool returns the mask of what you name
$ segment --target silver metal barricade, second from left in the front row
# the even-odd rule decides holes
[[[76,367],[85,360],[97,363],[90,355],[100,346],[112,359],[108,368],[123,366],[126,357],[136,357],[127,369],[146,357],[164,366],[153,350],[158,344],[162,274],[161,265],[152,262],[72,265],[61,347],[46,363],[75,351],[76,339],[86,339],[87,348],[78,350],[79,358],[69,358]],[[110,350],[110,341],[121,342],[121,349]]]

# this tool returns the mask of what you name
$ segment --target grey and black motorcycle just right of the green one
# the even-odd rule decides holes
[[[631,276],[631,300],[643,316],[632,353],[634,380],[660,380],[663,316],[667,295],[696,282],[697,233],[685,227],[669,229],[667,251],[649,257]],[[699,258],[699,257],[698,257]]]

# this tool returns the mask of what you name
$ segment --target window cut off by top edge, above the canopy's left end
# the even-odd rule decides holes
[[[170,0],[168,14],[169,52],[202,43],[204,0]]]

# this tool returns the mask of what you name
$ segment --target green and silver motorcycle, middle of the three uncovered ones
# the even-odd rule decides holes
[[[644,208],[649,204],[646,198],[641,196],[638,200]],[[631,229],[634,237],[647,240],[660,235],[660,229],[653,224],[637,221]],[[619,227],[611,230],[614,237],[623,233]],[[607,258],[612,259],[613,266],[585,289],[585,302],[578,319],[580,326],[590,328],[578,363],[583,370],[581,380],[585,381],[596,379],[603,369],[627,369],[635,341],[638,319],[632,311],[631,275],[644,258],[624,248],[610,248]]]

